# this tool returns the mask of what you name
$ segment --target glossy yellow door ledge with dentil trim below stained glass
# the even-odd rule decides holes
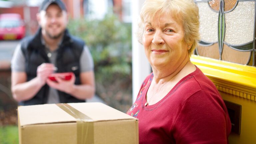
[[[240,65],[201,56],[191,56],[191,61],[209,77],[215,85],[237,96],[256,95],[256,67]],[[247,97],[247,96],[246,96]],[[251,99],[251,97],[249,98]]]

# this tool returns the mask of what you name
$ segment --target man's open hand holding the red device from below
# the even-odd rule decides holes
[[[74,83],[75,83],[75,79],[76,79],[76,76],[74,73],[72,73],[72,76],[71,76],[71,79],[70,80],[63,80],[59,77],[55,77],[56,79],[56,82],[50,80],[50,79],[47,79],[46,80],[46,83],[52,87],[52,88],[55,88],[59,91],[63,91],[65,93],[72,93],[73,89],[74,89]]]

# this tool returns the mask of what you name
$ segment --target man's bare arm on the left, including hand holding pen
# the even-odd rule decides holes
[[[26,82],[27,74],[25,72],[12,71],[11,83],[13,98],[18,102],[33,98],[42,86],[45,85],[48,76],[53,71],[53,64],[41,64],[37,68],[37,76],[28,82]]]

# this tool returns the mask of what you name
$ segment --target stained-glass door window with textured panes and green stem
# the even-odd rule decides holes
[[[255,66],[256,0],[195,0],[200,37],[195,54]]]

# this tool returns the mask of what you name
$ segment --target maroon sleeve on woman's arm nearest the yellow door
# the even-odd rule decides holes
[[[200,90],[184,102],[173,136],[176,144],[227,144],[230,128],[222,98]]]

